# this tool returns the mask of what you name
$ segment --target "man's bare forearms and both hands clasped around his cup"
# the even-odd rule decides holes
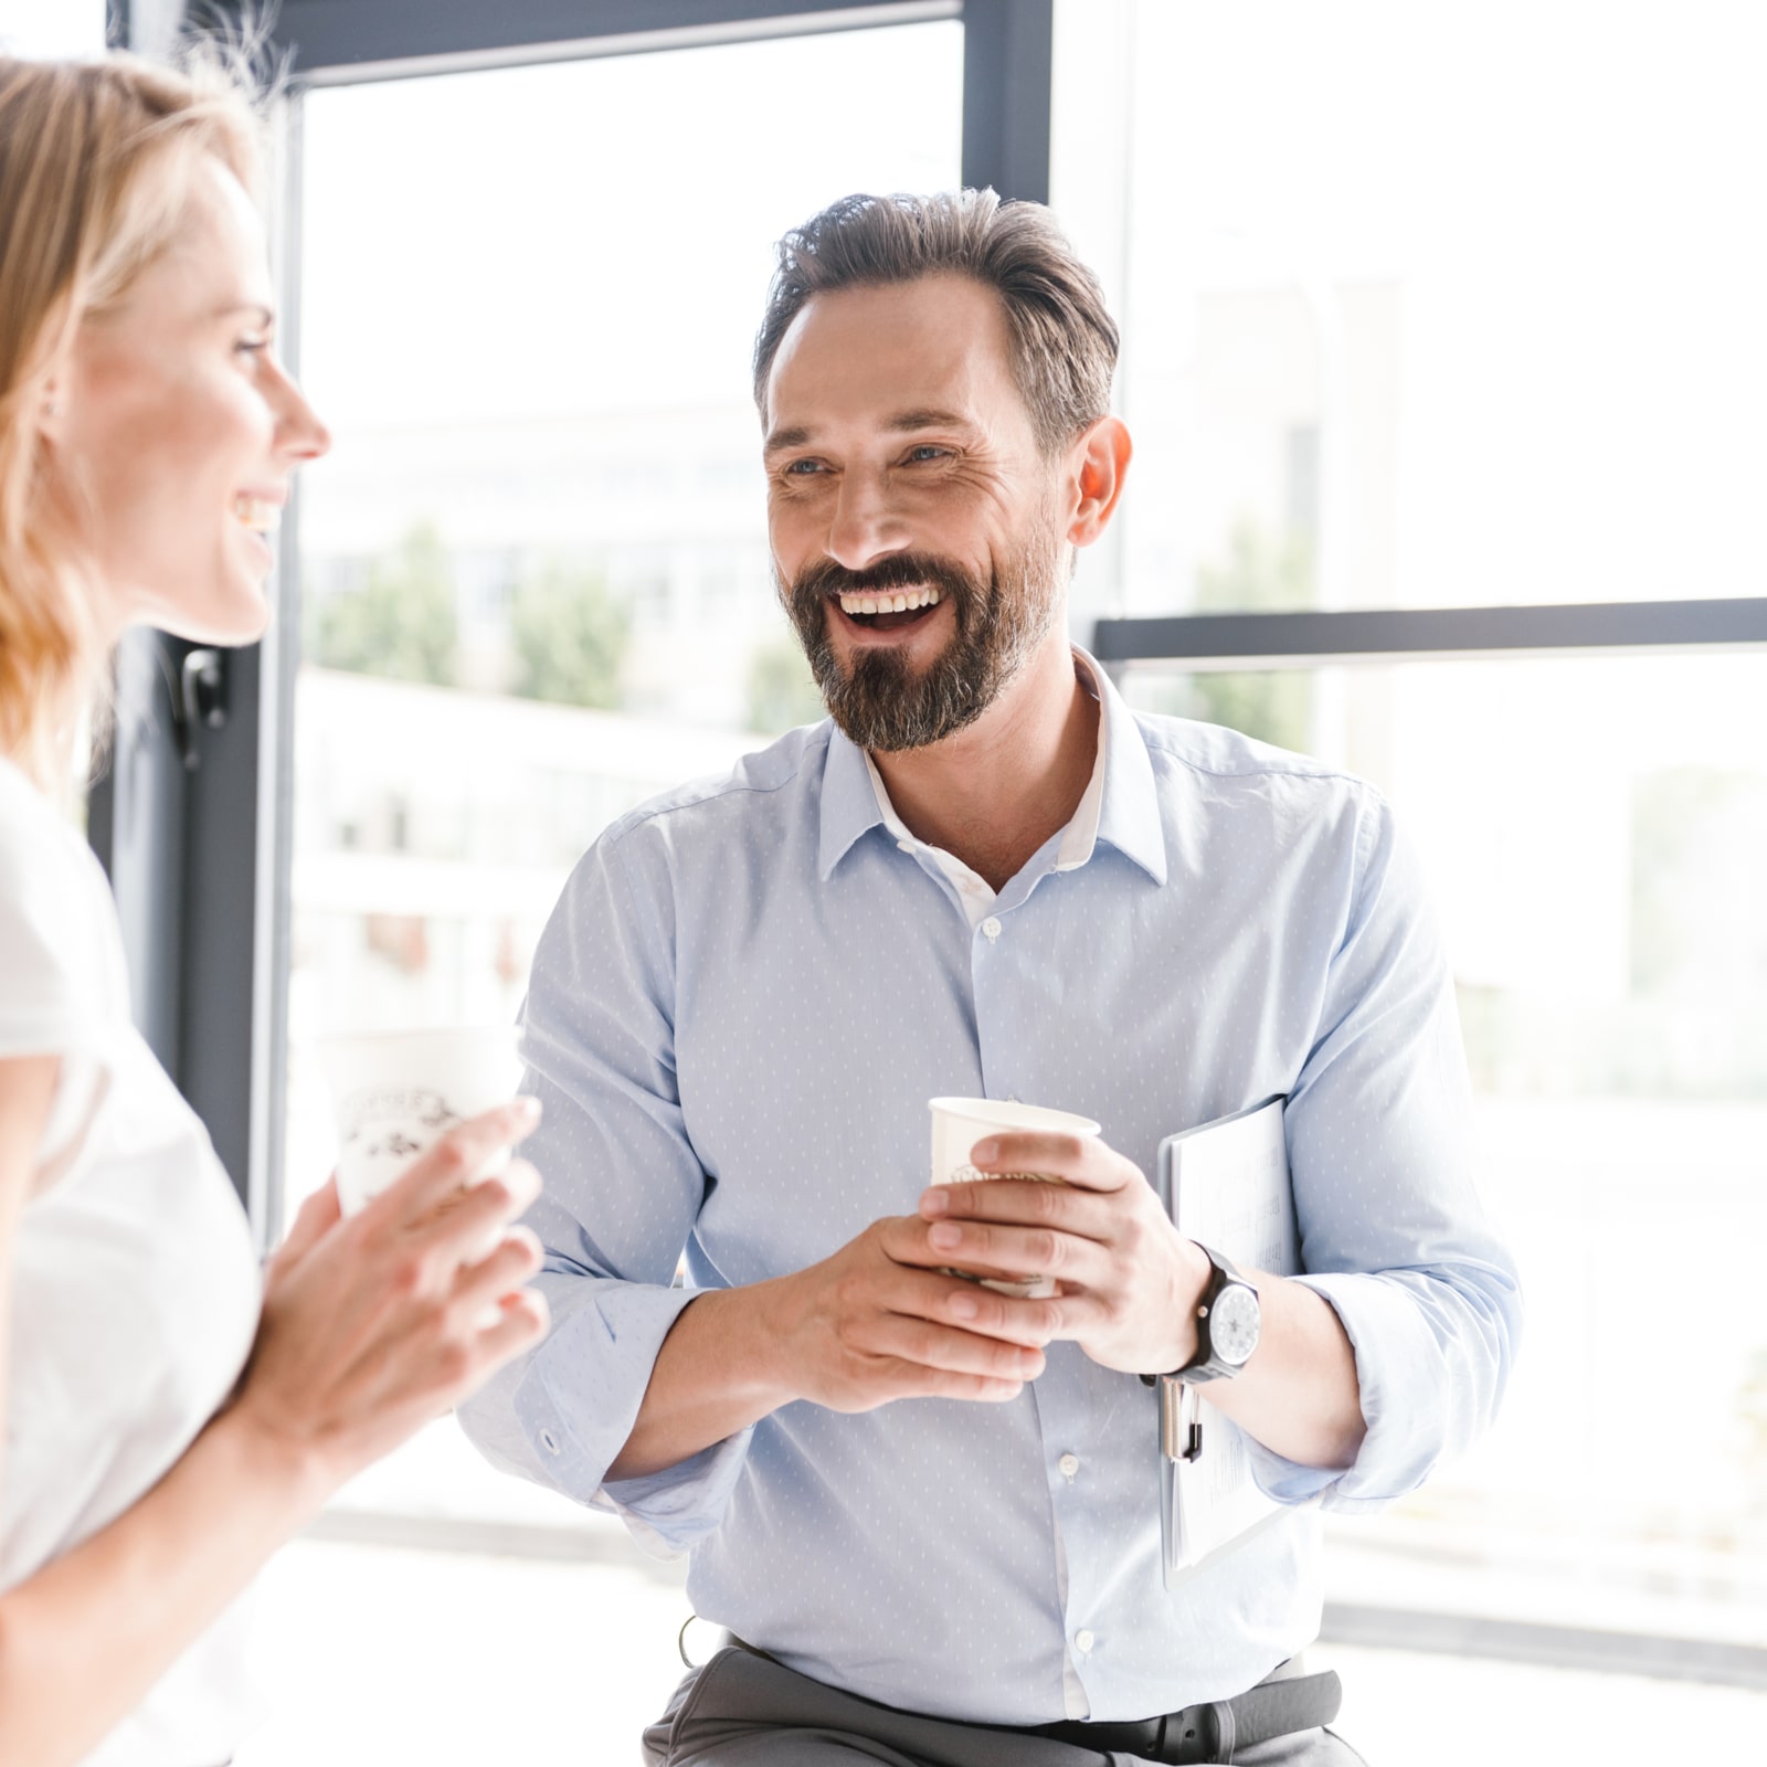
[[[912,1398],[1012,1399],[1058,1338],[1134,1375],[1196,1354],[1209,1260],[1134,1164],[1066,1134],[997,1134],[970,1157],[982,1172],[1064,1182],[938,1186],[917,1216],[875,1221],[820,1263],[700,1295],[663,1339],[610,1477],[673,1467],[793,1399],[836,1412]],[[1021,1301],[945,1269],[1048,1274],[1058,1292]],[[1205,1387],[1205,1398],[1290,1460],[1346,1467],[1362,1414],[1338,1315],[1311,1288],[1246,1274],[1258,1283],[1263,1336],[1246,1373]]]

